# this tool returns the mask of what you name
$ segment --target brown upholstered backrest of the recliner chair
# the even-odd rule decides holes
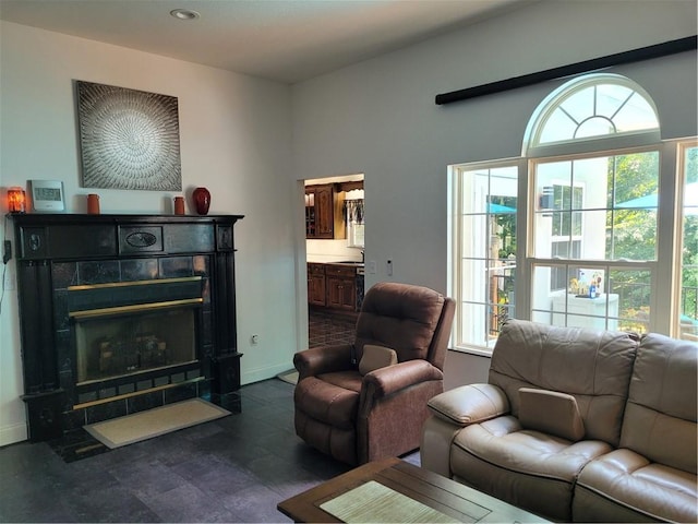
[[[425,359],[443,370],[455,302],[423,286],[381,282],[363,298],[357,320],[357,359],[365,344],[395,349],[398,361]]]

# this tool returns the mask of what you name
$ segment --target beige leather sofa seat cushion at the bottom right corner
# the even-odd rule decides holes
[[[662,521],[698,522],[696,480],[691,473],[615,450],[581,471],[573,515],[575,521],[610,522],[630,510]]]

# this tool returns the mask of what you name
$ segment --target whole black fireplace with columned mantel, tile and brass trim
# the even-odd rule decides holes
[[[239,390],[242,215],[9,216],[32,442]]]

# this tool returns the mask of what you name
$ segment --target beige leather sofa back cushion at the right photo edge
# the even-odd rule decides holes
[[[637,352],[621,446],[696,474],[698,345],[659,334]]]

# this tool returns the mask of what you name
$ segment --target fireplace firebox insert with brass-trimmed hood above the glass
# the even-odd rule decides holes
[[[201,276],[68,287],[79,391],[191,368],[203,301]]]

